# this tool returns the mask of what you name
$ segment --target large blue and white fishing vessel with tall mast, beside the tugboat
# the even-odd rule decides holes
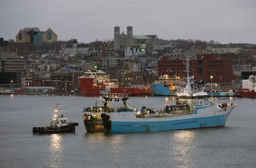
[[[191,85],[193,78],[189,76],[187,60],[187,84],[183,92],[177,94],[176,103],[166,105],[160,110],[152,110],[142,106],[142,110],[129,106],[128,98],[106,95],[105,100],[122,99],[124,106],[108,109],[107,106],[97,109],[87,115],[100,116],[101,131],[111,133],[122,132],[156,132],[177,129],[197,129],[206,127],[221,127],[226,124],[229,114],[236,103],[217,103],[215,99],[208,98],[206,92],[194,92]],[[109,97],[109,98],[108,98]],[[85,126],[86,127],[86,126]]]

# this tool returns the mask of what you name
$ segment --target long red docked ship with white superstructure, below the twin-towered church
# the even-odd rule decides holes
[[[106,86],[110,87],[111,93],[128,94],[130,96],[151,94],[150,86],[119,87],[117,79],[110,79],[109,75],[101,70],[88,70],[83,76],[79,76],[78,81],[81,95],[105,94]]]

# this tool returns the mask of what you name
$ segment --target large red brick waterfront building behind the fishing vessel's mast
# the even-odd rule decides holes
[[[184,59],[170,59],[162,57],[158,60],[158,76],[164,74],[176,74],[181,78],[186,77]],[[189,61],[190,75],[194,75],[196,81],[203,79],[205,83],[213,81],[222,85],[231,84],[235,79],[233,74],[233,60],[220,58],[218,54],[198,54],[197,59]]]

